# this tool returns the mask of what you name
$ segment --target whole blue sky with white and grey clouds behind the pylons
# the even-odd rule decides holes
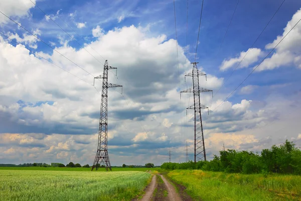
[[[197,43],[201,1],[175,1],[176,34],[171,0],[0,0],[0,163],[92,165],[105,60],[111,165],[193,159],[195,58],[207,159],[301,147],[301,2],[282,3],[204,1]]]

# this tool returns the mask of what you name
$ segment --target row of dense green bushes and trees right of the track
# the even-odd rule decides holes
[[[228,173],[286,173],[301,174],[301,150],[288,140],[270,149],[263,149],[260,154],[252,151],[236,151],[228,149],[214,155],[211,161],[193,161],[186,163],[165,162],[161,168],[174,169],[202,169],[204,171],[223,171]]]

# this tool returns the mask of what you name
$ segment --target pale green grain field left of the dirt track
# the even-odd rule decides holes
[[[0,197],[1,200],[131,200],[143,192],[150,177],[149,173],[139,171],[0,170]]]

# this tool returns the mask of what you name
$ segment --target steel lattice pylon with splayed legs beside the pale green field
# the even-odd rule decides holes
[[[110,159],[108,155],[108,88],[119,87],[121,85],[108,83],[108,70],[117,69],[109,66],[108,61],[105,60],[103,67],[103,74],[95,79],[102,79],[102,91],[101,91],[101,106],[100,106],[100,119],[99,119],[99,130],[98,130],[98,145],[97,152],[93,162],[91,171],[96,167],[96,170],[101,164],[106,168],[111,169]],[[93,84],[94,85],[94,84]]]

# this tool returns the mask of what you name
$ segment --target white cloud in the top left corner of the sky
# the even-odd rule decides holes
[[[32,0],[33,3],[36,3],[36,0]],[[4,12],[7,16],[11,17],[23,17],[28,16],[29,9],[35,7],[35,5],[27,0],[15,0],[15,1],[0,1],[1,11]],[[4,15],[0,15],[0,24],[7,23],[10,21]]]

